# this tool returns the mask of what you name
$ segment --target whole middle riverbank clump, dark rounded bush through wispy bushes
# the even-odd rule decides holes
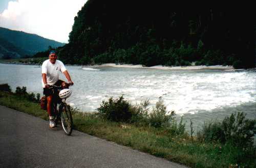
[[[166,111],[163,101],[159,99],[152,111],[149,111],[149,101],[144,100],[139,105],[131,105],[123,100],[121,96],[118,99],[112,97],[108,101],[102,101],[98,108],[99,114],[110,121],[134,123],[137,126],[152,126],[155,128],[172,127],[174,134],[184,134],[185,124],[182,120],[177,126],[174,121],[175,113]],[[176,123],[174,126],[173,123]],[[176,129],[176,130],[175,130]]]

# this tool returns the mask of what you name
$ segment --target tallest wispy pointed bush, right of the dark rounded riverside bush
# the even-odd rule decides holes
[[[170,120],[172,120],[175,115],[174,111],[170,114],[168,113],[169,112],[166,111],[166,106],[163,104],[163,100],[159,99],[149,116],[148,121],[150,125],[156,128],[168,127],[170,125]]]

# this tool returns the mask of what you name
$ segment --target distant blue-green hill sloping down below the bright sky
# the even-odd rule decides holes
[[[63,46],[44,37],[0,27],[0,58],[23,58],[53,48]]]

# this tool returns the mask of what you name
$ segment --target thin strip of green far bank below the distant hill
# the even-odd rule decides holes
[[[8,64],[37,64],[41,65],[48,57],[44,58],[27,58],[27,59],[10,59],[10,60],[0,60],[0,63],[8,63]]]

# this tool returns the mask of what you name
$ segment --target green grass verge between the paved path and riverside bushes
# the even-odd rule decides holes
[[[24,113],[48,119],[39,104],[0,91],[0,104]],[[230,144],[200,143],[188,134],[172,136],[166,128],[137,127],[106,121],[97,114],[72,111],[76,130],[128,146],[157,157],[191,167],[256,167],[255,151]],[[231,165],[232,164],[232,165]]]

